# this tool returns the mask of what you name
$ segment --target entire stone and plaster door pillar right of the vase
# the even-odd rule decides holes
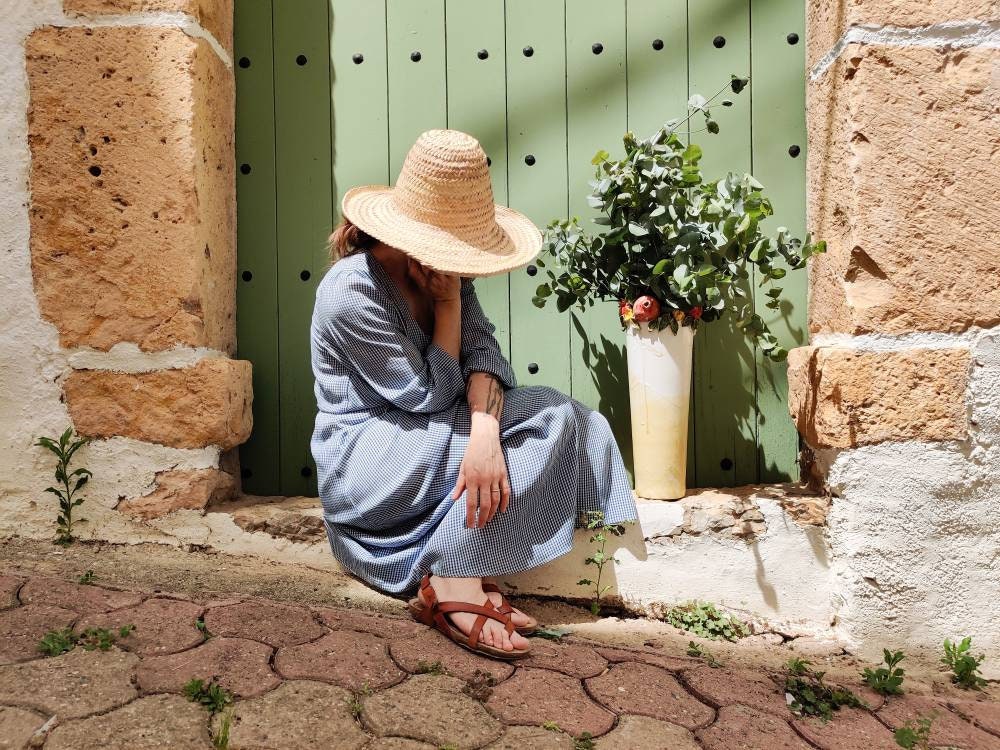
[[[837,622],[1000,660],[1000,3],[809,0],[809,347]],[[996,666],[994,666],[996,669]]]

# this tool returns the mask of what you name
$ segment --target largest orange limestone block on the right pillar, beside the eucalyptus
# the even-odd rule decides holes
[[[1000,323],[1000,50],[851,45],[810,83],[814,333]]]

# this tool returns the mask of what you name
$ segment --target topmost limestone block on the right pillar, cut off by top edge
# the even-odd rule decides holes
[[[809,66],[829,52],[852,26],[914,28],[947,21],[997,18],[1000,18],[1000,0],[808,0]]]

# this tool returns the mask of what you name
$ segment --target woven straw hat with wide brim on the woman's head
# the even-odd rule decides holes
[[[486,153],[458,130],[428,130],[413,144],[395,187],[348,190],[344,216],[372,237],[436,271],[492,276],[526,265],[542,236],[493,202]]]

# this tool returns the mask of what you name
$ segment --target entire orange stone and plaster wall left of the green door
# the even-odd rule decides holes
[[[0,531],[51,536],[73,425],[94,479],[74,528],[238,491],[250,363],[235,354],[232,0],[31,0],[0,28]],[[225,470],[224,470],[225,469]]]

